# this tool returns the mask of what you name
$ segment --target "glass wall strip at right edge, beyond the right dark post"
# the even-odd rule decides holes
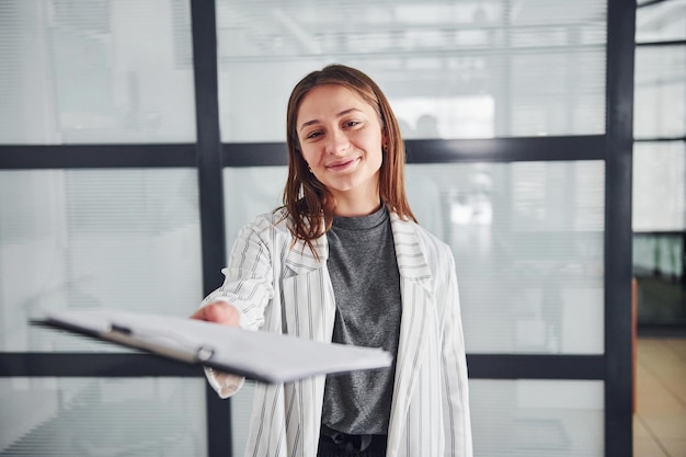
[[[636,16],[633,272],[639,328],[686,325],[686,1]]]

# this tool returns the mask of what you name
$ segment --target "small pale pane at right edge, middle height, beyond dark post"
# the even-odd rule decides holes
[[[686,229],[686,144],[633,144],[634,231]]]

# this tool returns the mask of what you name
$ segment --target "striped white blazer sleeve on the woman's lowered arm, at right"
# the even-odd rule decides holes
[[[444,296],[443,398],[446,456],[472,457],[467,356],[459,292],[451,251],[447,253]]]

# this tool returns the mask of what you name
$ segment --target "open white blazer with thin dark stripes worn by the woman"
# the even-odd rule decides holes
[[[327,237],[319,260],[294,237],[282,214],[259,216],[240,232],[224,285],[203,304],[226,300],[247,329],[330,342],[335,299],[327,270]],[[419,225],[391,214],[400,271],[402,317],[388,457],[471,457],[467,362],[453,253]],[[315,457],[324,376],[285,385],[255,385],[250,457]],[[222,397],[242,385],[208,370]]]

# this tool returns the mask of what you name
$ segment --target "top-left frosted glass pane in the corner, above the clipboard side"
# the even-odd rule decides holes
[[[188,1],[3,0],[0,144],[195,141],[190,23]]]

